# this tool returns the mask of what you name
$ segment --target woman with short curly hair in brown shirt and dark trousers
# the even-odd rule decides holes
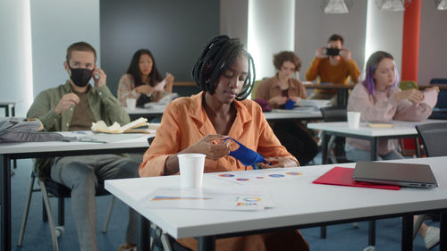
[[[292,74],[301,69],[301,61],[296,54],[289,51],[274,54],[274,68],[277,71],[274,77],[259,83],[255,101],[260,104],[268,102],[270,108],[284,108],[288,100],[299,103],[307,97],[304,85],[299,79],[292,78]],[[270,126],[281,144],[301,164],[307,164],[318,154],[316,140],[300,121],[271,122]]]

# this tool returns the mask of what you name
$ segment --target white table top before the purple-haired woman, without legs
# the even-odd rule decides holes
[[[348,127],[348,122],[308,123],[308,129],[325,130],[331,132],[349,133],[368,137],[385,137],[399,135],[417,135],[415,126],[423,123],[445,122],[442,120],[426,121],[392,121],[393,128],[370,128],[366,122],[360,122],[358,129]]]

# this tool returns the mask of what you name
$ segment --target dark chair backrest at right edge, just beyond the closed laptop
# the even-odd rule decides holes
[[[426,146],[427,157],[447,156],[447,122],[417,125],[416,130]]]

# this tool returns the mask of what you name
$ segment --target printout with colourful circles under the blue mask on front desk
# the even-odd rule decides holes
[[[221,180],[227,180],[239,184],[260,184],[277,180],[295,180],[303,176],[302,172],[296,172],[295,170],[271,168],[245,172],[216,172],[214,175],[216,178]]]

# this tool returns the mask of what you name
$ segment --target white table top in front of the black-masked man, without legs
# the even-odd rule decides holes
[[[64,136],[71,135],[71,132],[64,132]],[[26,154],[26,153],[47,153],[47,152],[66,152],[78,150],[101,150],[101,149],[125,149],[135,147],[145,147],[148,145],[148,137],[154,137],[154,134],[141,134],[138,138],[129,138],[109,143],[94,142],[63,142],[63,141],[47,141],[47,142],[17,142],[17,143],[1,143],[0,154]]]

